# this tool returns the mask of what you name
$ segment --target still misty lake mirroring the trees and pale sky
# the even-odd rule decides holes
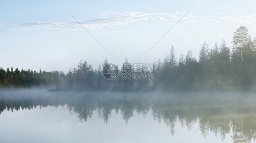
[[[0,91],[0,143],[253,143],[253,93]]]

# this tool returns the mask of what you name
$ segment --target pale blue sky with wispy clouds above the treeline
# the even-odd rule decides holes
[[[121,66],[140,57],[187,12],[140,62],[164,59],[173,45],[176,57],[201,44],[209,48],[231,38],[243,25],[256,36],[255,0],[12,0],[0,1],[0,67],[64,71],[87,60],[94,68],[105,57]],[[67,10],[117,58],[115,60]]]

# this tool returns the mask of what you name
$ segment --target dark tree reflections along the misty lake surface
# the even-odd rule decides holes
[[[155,120],[159,123],[163,121],[170,128],[171,134],[174,134],[175,124],[181,124],[190,131],[193,125],[198,123],[205,138],[209,132],[215,133],[216,136],[219,135],[222,140],[228,133],[232,133],[234,143],[249,143],[256,138],[256,106],[254,103],[241,100],[239,104],[234,104],[233,101],[223,104],[225,101],[214,103],[211,97],[212,104],[210,104],[210,102],[203,101],[205,99],[184,100],[184,98],[163,96],[159,98],[159,102],[164,106],[163,109],[148,95],[112,93],[92,107],[103,93],[77,92],[74,95],[72,92],[40,92],[40,94],[33,95],[27,92],[28,95],[22,96],[19,93],[15,95],[16,93],[6,92],[5,96],[0,97],[0,114],[4,110],[30,110],[36,107],[41,109],[47,106],[57,108],[67,105],[70,111],[78,114],[81,122],[86,122],[96,111],[107,124],[112,112],[115,111],[122,114],[123,120],[128,124],[134,114],[145,115],[151,111]]]

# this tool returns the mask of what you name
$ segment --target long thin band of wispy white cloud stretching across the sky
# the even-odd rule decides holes
[[[94,19],[78,19],[80,23],[88,29],[102,29],[106,27],[113,27],[116,25],[128,25],[136,22],[148,22],[148,21],[159,21],[168,22],[174,24],[185,12],[164,12],[164,13],[147,13],[147,12],[123,12],[123,13],[107,13],[101,14]],[[253,15],[225,15],[220,13],[217,15],[201,15],[190,12],[182,20],[189,22],[195,21],[212,21],[216,23],[220,22],[232,22],[241,24],[256,24],[256,14]],[[35,23],[24,23],[24,24],[1,24],[0,28],[7,28],[11,30],[29,30],[29,29],[71,29],[81,30],[82,27],[76,21],[71,22],[35,22]]]

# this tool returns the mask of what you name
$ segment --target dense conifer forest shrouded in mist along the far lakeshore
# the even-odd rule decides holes
[[[115,85],[116,90],[163,89],[171,91],[248,91],[256,89],[256,38],[251,39],[248,29],[240,26],[232,40],[233,48],[225,41],[211,49],[204,42],[197,60],[191,50],[179,59],[174,47],[163,61],[154,63],[154,79],[123,80],[121,74],[115,80],[102,75],[105,59],[97,69],[86,61],[80,61],[77,68],[64,74],[62,71],[32,71],[0,68],[0,88],[46,87],[56,89],[99,90]],[[125,59],[124,63],[128,63]],[[121,71],[121,70],[119,70]],[[148,75],[150,73],[146,73]]]

